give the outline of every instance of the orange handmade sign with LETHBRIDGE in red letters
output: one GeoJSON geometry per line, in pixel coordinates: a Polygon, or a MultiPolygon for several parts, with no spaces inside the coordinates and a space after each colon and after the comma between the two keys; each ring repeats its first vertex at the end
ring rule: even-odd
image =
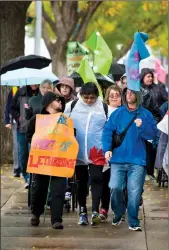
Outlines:
{"type": "Polygon", "coordinates": [[[71,178],[78,148],[71,118],[63,113],[36,115],[27,172],[71,178]]]}

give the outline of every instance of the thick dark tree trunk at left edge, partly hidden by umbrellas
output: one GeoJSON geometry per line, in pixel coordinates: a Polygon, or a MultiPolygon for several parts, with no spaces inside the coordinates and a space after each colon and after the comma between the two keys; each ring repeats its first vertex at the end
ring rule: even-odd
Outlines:
{"type": "MultiPolygon", "coordinates": [[[[1,1],[1,65],[8,60],[24,55],[26,12],[31,1],[1,1]]],[[[1,161],[8,162],[12,155],[11,132],[4,128],[3,111],[9,89],[1,87],[1,161]]]]}

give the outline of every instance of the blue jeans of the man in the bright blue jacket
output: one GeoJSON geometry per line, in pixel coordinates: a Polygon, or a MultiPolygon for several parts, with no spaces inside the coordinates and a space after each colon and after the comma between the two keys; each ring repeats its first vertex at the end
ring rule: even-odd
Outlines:
{"type": "Polygon", "coordinates": [[[140,225],[138,219],[141,194],[143,192],[146,168],[133,164],[111,164],[109,187],[111,189],[111,208],[118,218],[126,211],[124,189],[128,192],[128,224],[130,227],[140,225]]]}

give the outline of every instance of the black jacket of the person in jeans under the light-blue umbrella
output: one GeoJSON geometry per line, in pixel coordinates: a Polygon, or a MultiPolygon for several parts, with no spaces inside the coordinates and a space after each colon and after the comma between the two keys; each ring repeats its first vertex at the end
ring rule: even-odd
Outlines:
{"type": "Polygon", "coordinates": [[[16,92],[11,103],[11,115],[17,122],[18,129],[21,132],[26,132],[28,121],[25,119],[25,108],[24,104],[28,103],[28,100],[33,96],[37,95],[39,89],[33,91],[30,86],[24,86],[16,92]]]}

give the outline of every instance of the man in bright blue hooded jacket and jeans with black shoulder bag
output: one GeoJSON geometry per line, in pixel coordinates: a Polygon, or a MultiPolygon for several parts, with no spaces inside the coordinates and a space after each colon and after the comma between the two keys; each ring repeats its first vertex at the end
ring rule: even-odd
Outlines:
{"type": "Polygon", "coordinates": [[[118,226],[122,222],[126,210],[123,191],[127,185],[129,229],[141,231],[138,212],[146,176],[145,140],[156,136],[157,127],[152,114],[140,106],[139,92],[126,89],[123,94],[124,105],[112,113],[102,134],[105,158],[111,163],[112,225],[118,226]],[[126,128],[123,140],[114,147],[113,135],[120,135],[126,128]]]}

